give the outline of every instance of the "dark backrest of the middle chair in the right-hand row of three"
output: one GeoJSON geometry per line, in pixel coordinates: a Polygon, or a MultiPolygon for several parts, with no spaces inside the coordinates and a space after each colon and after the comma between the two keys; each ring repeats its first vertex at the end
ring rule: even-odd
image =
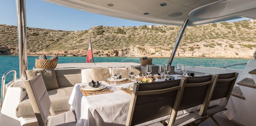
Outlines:
{"type": "Polygon", "coordinates": [[[205,106],[213,93],[212,89],[215,87],[216,80],[217,75],[188,77],[179,110],[201,105],[199,115],[203,115],[207,110],[205,106]]]}

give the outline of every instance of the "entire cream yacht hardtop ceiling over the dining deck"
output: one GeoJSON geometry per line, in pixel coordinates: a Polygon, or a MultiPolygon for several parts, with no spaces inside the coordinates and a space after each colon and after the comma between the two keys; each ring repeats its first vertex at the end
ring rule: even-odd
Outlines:
{"type": "Polygon", "coordinates": [[[256,0],[45,0],[117,18],[182,25],[201,25],[242,17],[256,19],[256,0]]]}

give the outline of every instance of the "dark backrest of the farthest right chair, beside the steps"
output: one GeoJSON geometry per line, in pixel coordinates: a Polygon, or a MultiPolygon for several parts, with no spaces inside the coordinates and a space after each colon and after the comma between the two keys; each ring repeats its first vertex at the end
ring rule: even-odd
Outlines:
{"type": "Polygon", "coordinates": [[[225,107],[228,104],[228,100],[236,83],[237,76],[237,72],[219,74],[211,97],[211,101],[220,98],[226,98],[222,105],[225,107]]]}

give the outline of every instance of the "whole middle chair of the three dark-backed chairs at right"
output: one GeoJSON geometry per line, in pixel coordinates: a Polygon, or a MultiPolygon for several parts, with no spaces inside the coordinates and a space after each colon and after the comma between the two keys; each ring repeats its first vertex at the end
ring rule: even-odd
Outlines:
{"type": "Polygon", "coordinates": [[[184,126],[203,118],[202,115],[207,110],[205,106],[213,93],[212,88],[215,87],[216,81],[217,75],[187,77],[178,111],[201,105],[200,111],[199,113],[190,112],[178,117],[176,117],[178,111],[173,111],[170,119],[166,120],[165,123],[168,126],[184,126]]]}

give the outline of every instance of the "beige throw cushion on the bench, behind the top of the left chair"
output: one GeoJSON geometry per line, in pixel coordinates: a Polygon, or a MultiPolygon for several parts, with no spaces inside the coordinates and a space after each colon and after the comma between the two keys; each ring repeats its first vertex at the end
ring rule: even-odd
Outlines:
{"type": "Polygon", "coordinates": [[[37,73],[42,74],[47,91],[57,89],[59,87],[54,69],[27,70],[26,71],[27,79],[28,80],[33,79],[34,77],[37,76],[37,73]]]}

